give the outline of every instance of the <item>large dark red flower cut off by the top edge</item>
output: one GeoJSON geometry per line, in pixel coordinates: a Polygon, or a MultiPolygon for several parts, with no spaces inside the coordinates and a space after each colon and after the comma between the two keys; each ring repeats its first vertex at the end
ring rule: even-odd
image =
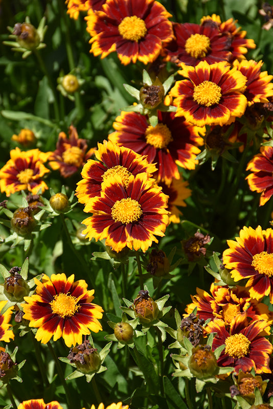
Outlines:
{"type": "Polygon", "coordinates": [[[87,32],[92,52],[106,57],[117,51],[124,65],[152,62],[163,43],[173,38],[171,14],[154,0],[107,0],[102,11],[88,11],[87,32]]]}

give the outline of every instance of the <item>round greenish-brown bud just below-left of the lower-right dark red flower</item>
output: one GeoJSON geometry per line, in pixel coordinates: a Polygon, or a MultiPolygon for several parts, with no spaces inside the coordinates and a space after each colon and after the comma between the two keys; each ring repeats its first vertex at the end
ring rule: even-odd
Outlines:
{"type": "Polygon", "coordinates": [[[212,376],[218,367],[215,355],[208,345],[194,347],[188,365],[189,370],[196,378],[212,376]]]}

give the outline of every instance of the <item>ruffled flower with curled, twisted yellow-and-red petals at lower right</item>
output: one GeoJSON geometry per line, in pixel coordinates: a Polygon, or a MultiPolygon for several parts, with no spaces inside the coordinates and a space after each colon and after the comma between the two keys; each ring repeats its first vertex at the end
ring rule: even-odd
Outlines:
{"type": "Polygon", "coordinates": [[[210,293],[200,288],[196,288],[197,294],[191,296],[192,303],[185,308],[187,314],[196,307],[196,313],[203,320],[216,318],[223,320],[229,326],[238,314],[247,312],[246,317],[253,321],[272,319],[268,307],[264,303],[253,300],[244,287],[229,287],[211,284],[210,293]]]}

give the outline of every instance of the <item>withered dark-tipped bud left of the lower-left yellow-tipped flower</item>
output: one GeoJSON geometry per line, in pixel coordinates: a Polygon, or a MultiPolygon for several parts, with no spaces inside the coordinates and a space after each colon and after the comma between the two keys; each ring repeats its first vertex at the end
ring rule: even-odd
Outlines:
{"type": "Polygon", "coordinates": [[[24,301],[24,297],[29,295],[28,283],[18,273],[19,267],[12,267],[10,276],[5,278],[4,294],[10,301],[24,301]]]}

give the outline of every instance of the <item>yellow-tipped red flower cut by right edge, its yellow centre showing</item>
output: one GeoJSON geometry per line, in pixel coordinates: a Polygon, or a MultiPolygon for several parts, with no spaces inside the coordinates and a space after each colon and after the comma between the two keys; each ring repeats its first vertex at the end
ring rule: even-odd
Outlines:
{"type": "Polygon", "coordinates": [[[231,269],[235,281],[247,278],[245,284],[252,298],[260,300],[269,296],[273,302],[273,230],[255,230],[244,226],[236,241],[227,240],[223,264],[231,269]]]}

